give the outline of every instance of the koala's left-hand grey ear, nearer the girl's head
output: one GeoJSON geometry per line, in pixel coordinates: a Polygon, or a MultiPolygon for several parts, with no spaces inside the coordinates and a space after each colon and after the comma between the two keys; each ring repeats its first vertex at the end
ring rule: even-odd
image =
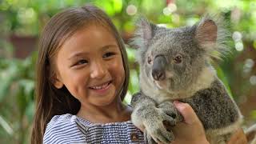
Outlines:
{"type": "Polygon", "coordinates": [[[143,17],[138,18],[136,23],[137,28],[130,44],[134,46],[134,48],[146,48],[150,39],[154,37],[154,29],[156,26],[143,17]]]}

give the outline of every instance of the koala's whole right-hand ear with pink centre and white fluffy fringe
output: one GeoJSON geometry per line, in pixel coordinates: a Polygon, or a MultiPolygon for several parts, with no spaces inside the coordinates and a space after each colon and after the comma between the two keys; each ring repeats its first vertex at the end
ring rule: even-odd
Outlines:
{"type": "Polygon", "coordinates": [[[230,54],[230,30],[221,15],[206,14],[202,20],[193,26],[194,37],[199,48],[206,50],[210,58],[222,59],[230,54]]]}

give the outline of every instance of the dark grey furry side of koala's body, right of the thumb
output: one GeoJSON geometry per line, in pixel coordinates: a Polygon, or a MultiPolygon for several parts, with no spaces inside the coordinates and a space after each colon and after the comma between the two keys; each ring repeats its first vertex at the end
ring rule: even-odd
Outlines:
{"type": "Polygon", "coordinates": [[[192,106],[206,130],[225,129],[240,119],[238,106],[218,79],[210,88],[199,90],[193,97],[182,99],[182,102],[192,106]]]}

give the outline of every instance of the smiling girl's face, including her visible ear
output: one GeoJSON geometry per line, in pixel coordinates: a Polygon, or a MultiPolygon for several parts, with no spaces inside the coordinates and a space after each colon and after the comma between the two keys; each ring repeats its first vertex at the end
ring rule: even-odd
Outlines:
{"type": "Polygon", "coordinates": [[[82,105],[106,106],[122,89],[122,54],[114,36],[103,26],[78,30],[60,47],[55,62],[54,86],[66,86],[82,105]]]}

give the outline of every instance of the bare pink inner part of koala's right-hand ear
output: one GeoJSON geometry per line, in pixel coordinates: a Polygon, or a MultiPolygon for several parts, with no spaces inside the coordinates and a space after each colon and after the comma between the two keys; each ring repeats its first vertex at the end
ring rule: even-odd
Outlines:
{"type": "Polygon", "coordinates": [[[218,26],[209,18],[203,18],[195,30],[195,38],[202,48],[212,48],[217,42],[218,26]]]}

